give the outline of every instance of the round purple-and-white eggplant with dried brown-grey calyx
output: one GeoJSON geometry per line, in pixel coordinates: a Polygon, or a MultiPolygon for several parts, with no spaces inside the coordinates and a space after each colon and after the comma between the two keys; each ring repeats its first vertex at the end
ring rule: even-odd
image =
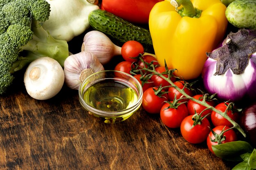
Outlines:
{"type": "Polygon", "coordinates": [[[229,33],[211,53],[202,69],[206,91],[221,100],[256,100],[256,30],[229,33]]]}

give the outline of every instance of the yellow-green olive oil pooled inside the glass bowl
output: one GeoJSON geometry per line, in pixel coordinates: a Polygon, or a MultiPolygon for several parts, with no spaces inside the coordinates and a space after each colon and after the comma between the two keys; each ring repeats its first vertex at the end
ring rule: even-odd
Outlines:
{"type": "Polygon", "coordinates": [[[127,82],[104,79],[86,89],[83,99],[93,108],[115,112],[133,106],[138,100],[138,95],[127,82]]]}

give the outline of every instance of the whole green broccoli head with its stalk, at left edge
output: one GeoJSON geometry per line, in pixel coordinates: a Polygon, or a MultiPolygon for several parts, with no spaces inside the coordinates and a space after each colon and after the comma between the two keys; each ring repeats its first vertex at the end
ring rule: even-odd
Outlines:
{"type": "Polygon", "coordinates": [[[64,66],[67,42],[42,27],[49,13],[46,0],[0,0],[0,94],[12,84],[14,72],[37,58],[52,57],[64,66]]]}

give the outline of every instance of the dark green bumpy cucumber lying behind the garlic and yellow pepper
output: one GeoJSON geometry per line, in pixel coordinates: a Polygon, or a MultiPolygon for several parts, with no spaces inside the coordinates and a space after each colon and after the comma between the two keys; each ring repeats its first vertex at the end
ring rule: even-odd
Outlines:
{"type": "Polygon", "coordinates": [[[140,42],[144,51],[154,53],[151,35],[148,29],[132,24],[108,11],[96,9],[89,13],[88,20],[92,29],[125,43],[129,40],[140,42]]]}

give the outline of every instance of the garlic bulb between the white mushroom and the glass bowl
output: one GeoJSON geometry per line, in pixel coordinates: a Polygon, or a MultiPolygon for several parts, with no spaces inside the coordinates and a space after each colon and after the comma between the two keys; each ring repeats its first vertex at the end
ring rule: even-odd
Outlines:
{"type": "Polygon", "coordinates": [[[82,51],[70,55],[64,62],[65,83],[69,88],[78,90],[86,77],[103,70],[103,65],[94,53],[82,51]]]}

